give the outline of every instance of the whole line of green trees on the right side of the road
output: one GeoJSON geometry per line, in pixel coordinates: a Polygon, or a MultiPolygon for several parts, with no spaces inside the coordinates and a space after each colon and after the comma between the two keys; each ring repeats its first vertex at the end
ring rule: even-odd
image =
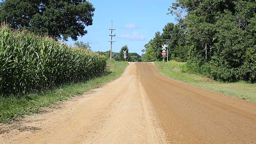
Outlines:
{"type": "Polygon", "coordinates": [[[178,0],[169,8],[177,24],[145,45],[143,61],[186,61],[189,72],[219,81],[256,81],[256,1],[178,0]],[[184,16],[185,15],[185,16],[184,16]]]}

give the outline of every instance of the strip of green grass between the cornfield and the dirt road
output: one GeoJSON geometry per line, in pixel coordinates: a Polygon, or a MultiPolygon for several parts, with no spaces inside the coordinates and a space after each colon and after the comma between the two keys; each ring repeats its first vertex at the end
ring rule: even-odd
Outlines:
{"type": "Polygon", "coordinates": [[[67,84],[60,88],[19,97],[0,97],[0,122],[5,123],[15,117],[35,113],[40,107],[49,107],[57,101],[64,101],[93,88],[100,87],[120,77],[127,65],[127,62],[109,61],[109,72],[106,75],[86,82],[67,84]]]}

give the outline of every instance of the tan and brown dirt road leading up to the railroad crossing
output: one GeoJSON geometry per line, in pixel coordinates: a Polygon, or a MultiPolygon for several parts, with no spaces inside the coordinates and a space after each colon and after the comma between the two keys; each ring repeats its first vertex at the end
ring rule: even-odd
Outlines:
{"type": "Polygon", "coordinates": [[[256,144],[255,103],[169,79],[152,63],[130,63],[62,105],[21,120],[0,144],[256,144]]]}

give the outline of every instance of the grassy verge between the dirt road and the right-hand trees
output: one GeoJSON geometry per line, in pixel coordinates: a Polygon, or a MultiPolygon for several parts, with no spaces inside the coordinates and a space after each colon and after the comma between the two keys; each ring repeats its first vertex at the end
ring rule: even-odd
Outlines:
{"type": "Polygon", "coordinates": [[[187,68],[185,63],[179,63],[177,61],[169,61],[168,63],[155,62],[155,66],[163,75],[172,79],[183,81],[197,87],[210,89],[232,97],[256,101],[256,84],[250,84],[245,81],[222,83],[200,75],[192,75],[186,72],[187,68]]]}

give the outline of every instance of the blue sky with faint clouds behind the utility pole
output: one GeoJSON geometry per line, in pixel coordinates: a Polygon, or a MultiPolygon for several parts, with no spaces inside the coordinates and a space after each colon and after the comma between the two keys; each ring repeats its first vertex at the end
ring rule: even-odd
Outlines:
{"type": "MultiPolygon", "coordinates": [[[[78,41],[89,42],[92,51],[110,49],[111,20],[113,28],[112,51],[119,52],[123,45],[128,45],[129,52],[141,55],[141,49],[155,35],[162,31],[165,24],[175,22],[175,16],[166,15],[168,8],[175,0],[88,0],[95,7],[93,25],[86,29],[88,33],[78,41]]],[[[67,44],[74,44],[69,39],[67,44]]]]}

